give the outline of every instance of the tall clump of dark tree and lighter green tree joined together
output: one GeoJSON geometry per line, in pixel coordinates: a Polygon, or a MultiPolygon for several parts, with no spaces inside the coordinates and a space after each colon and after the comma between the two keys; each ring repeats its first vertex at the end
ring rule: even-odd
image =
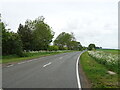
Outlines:
{"type": "Polygon", "coordinates": [[[21,37],[24,50],[47,50],[52,42],[54,32],[44,22],[44,17],[35,20],[26,20],[25,25],[19,25],[18,34],[21,37]]]}

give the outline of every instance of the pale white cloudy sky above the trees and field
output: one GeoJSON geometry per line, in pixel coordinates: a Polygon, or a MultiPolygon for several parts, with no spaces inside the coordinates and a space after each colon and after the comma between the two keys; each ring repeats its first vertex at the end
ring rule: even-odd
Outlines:
{"type": "Polygon", "coordinates": [[[0,0],[2,21],[16,32],[26,19],[44,16],[55,32],[73,32],[83,46],[118,47],[119,0],[0,0]]]}

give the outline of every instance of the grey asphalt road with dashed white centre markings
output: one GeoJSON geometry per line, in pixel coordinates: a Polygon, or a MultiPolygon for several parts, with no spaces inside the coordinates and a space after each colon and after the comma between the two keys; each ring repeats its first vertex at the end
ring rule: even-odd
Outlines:
{"type": "Polygon", "coordinates": [[[62,53],[3,67],[3,88],[78,88],[81,52],[62,53]]]}

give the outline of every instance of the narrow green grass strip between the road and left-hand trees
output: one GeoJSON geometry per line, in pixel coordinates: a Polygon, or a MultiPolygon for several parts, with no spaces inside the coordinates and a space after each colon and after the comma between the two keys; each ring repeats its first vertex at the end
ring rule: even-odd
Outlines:
{"type": "MultiPolygon", "coordinates": [[[[73,51],[61,51],[61,52],[39,52],[39,53],[25,53],[26,57],[19,57],[17,55],[8,55],[8,56],[2,56],[2,63],[11,63],[11,62],[19,62],[23,60],[29,60],[34,58],[39,58],[42,56],[49,56],[49,55],[55,55],[60,53],[66,53],[66,52],[73,52],[73,51]]],[[[0,60],[1,61],[1,60],[0,60]]]]}

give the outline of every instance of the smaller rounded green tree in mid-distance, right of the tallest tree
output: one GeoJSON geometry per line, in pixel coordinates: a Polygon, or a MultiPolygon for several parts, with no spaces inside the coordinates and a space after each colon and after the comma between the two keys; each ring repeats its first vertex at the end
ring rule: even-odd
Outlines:
{"type": "Polygon", "coordinates": [[[82,45],[80,42],[75,40],[74,34],[62,32],[54,41],[54,45],[57,45],[59,49],[64,50],[65,48],[69,50],[81,50],[82,45]]]}

